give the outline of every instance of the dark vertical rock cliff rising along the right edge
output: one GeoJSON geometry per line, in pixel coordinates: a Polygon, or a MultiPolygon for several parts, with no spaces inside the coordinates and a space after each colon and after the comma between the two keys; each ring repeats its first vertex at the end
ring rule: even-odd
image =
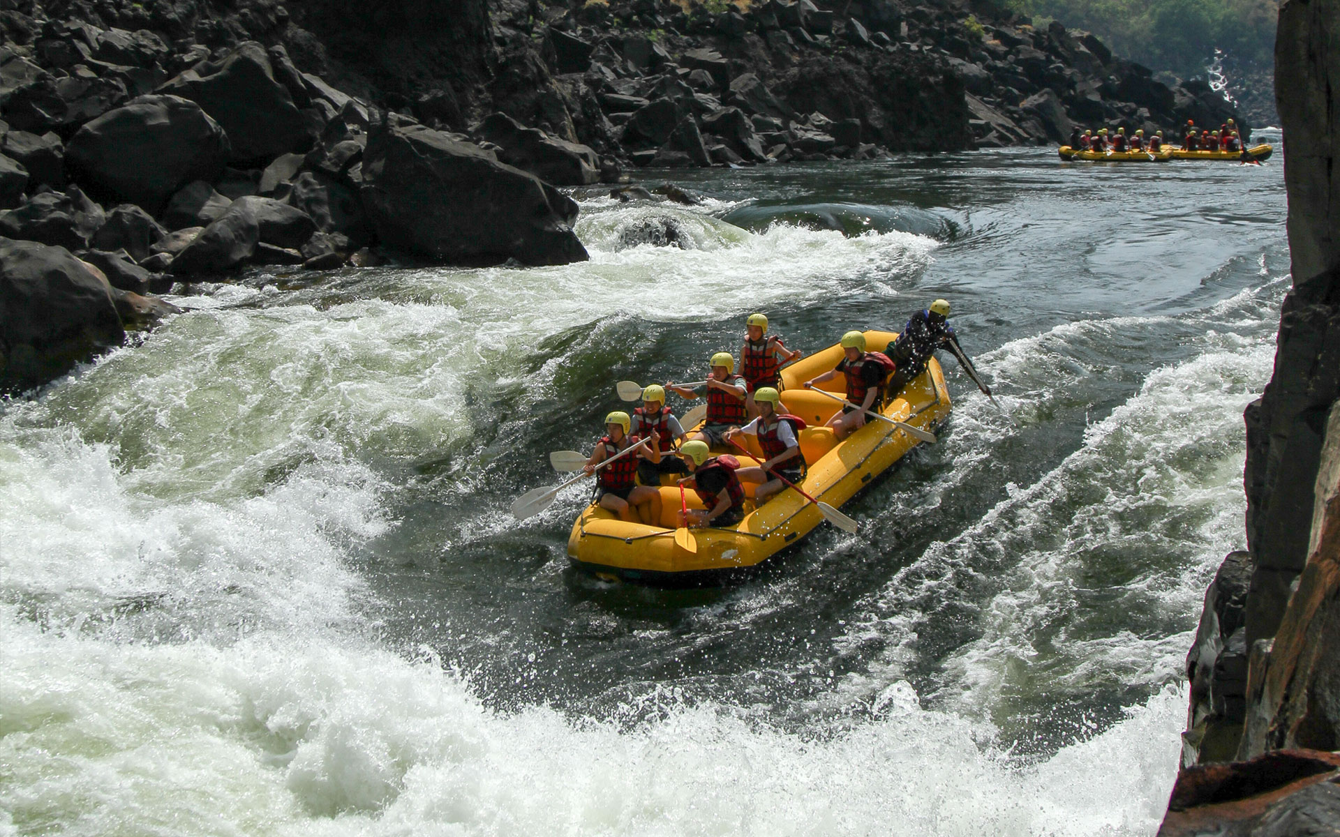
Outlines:
{"type": "Polygon", "coordinates": [[[1293,289],[1246,410],[1248,552],[1206,593],[1183,770],[1159,832],[1340,828],[1340,0],[1286,0],[1276,42],[1293,289]]]}

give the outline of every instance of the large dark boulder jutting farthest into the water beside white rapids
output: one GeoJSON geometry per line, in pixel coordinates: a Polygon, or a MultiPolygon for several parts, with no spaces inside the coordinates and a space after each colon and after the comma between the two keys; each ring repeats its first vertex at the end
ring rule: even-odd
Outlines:
{"type": "Polygon", "coordinates": [[[576,204],[488,151],[422,127],[379,126],[363,162],[363,205],[382,242],[452,262],[568,264],[586,248],[576,204]]]}

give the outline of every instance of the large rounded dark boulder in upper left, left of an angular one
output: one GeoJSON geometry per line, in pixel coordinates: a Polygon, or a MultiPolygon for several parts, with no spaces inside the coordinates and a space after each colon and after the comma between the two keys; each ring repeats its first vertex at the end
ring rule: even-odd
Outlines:
{"type": "Polygon", "coordinates": [[[217,179],[226,155],[218,123],[194,102],[169,95],[103,114],[79,129],[67,151],[80,182],[151,213],[186,183],[217,179]]]}

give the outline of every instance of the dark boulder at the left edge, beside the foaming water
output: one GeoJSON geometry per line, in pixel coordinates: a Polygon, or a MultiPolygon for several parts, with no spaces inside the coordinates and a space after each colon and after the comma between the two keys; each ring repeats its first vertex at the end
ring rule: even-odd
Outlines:
{"type": "Polygon", "coordinates": [[[0,238],[0,391],[48,383],[125,336],[111,288],[70,250],[0,238]]]}

